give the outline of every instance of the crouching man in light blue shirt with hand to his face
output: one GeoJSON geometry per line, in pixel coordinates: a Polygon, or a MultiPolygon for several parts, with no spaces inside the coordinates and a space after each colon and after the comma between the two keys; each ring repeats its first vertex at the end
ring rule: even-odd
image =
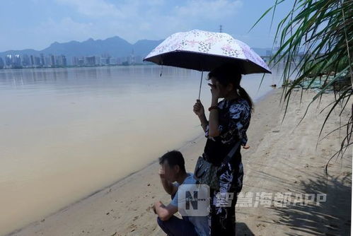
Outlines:
{"type": "MultiPolygon", "coordinates": [[[[170,151],[159,158],[159,164],[160,169],[158,174],[161,177],[161,183],[164,190],[170,194],[172,201],[170,201],[167,206],[161,203],[161,201],[154,203],[154,212],[158,215],[158,225],[167,235],[209,235],[209,225],[206,214],[202,216],[189,214],[186,216],[187,213],[185,213],[184,208],[180,208],[180,206],[185,204],[185,199],[188,197],[186,194],[187,189],[195,187],[196,184],[196,179],[193,174],[185,171],[183,154],[180,153],[180,151],[170,151]],[[173,184],[174,182],[176,183],[173,184]],[[178,211],[183,216],[182,219],[174,216],[174,213],[178,211]]],[[[191,190],[190,192],[195,193],[195,191],[191,190]]],[[[190,197],[192,198],[192,196],[190,197]]],[[[187,208],[191,207],[189,203],[187,208]]]]}

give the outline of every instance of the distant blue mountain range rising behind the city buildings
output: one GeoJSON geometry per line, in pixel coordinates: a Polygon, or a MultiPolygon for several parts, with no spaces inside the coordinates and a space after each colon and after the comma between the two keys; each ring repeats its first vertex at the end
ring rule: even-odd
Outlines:
{"type": "MultiPolygon", "coordinates": [[[[159,45],[163,40],[139,40],[134,44],[127,42],[121,37],[108,37],[105,40],[93,40],[92,38],[83,41],[70,41],[70,42],[54,42],[49,47],[37,51],[34,49],[24,50],[9,50],[0,52],[0,57],[5,57],[7,54],[28,54],[39,56],[42,54],[65,55],[66,57],[85,57],[109,54],[110,57],[129,57],[134,52],[134,55],[146,57],[154,47],[159,45]]],[[[253,48],[260,56],[265,56],[266,51],[270,48],[253,48]]]]}

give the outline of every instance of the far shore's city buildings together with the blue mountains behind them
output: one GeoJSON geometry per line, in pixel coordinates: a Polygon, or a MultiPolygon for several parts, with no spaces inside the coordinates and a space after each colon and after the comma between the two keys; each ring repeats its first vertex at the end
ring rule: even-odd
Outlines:
{"type": "MultiPolygon", "coordinates": [[[[142,60],[146,54],[160,42],[161,40],[139,40],[131,45],[120,37],[62,44],[54,42],[42,51],[27,49],[0,52],[0,69],[143,64],[142,60]]],[[[262,57],[271,54],[270,48],[254,50],[262,57]]]]}

